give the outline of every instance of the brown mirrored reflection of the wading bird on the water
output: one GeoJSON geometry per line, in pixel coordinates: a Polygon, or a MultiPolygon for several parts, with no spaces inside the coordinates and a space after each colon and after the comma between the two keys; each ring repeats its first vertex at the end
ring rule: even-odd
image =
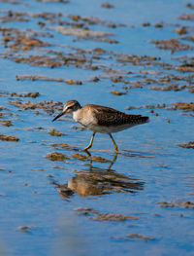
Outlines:
{"type": "Polygon", "coordinates": [[[117,173],[112,169],[94,167],[90,163],[86,170],[75,171],[75,176],[66,184],[55,181],[52,181],[52,184],[56,186],[61,197],[68,199],[75,193],[80,197],[106,195],[113,192],[134,194],[144,189],[145,182],[117,173]]]}

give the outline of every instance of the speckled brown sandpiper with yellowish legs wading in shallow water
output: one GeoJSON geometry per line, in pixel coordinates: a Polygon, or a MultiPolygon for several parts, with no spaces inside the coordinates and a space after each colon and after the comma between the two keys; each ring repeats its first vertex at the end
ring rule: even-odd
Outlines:
{"type": "Polygon", "coordinates": [[[73,119],[79,122],[84,128],[93,130],[89,145],[83,149],[85,151],[91,148],[96,132],[101,132],[111,137],[115,152],[117,152],[118,148],[113,140],[113,132],[143,125],[148,122],[148,117],[127,115],[110,107],[93,104],[81,107],[81,104],[77,100],[67,101],[63,107],[63,111],[52,122],[66,113],[72,114],[73,119]]]}

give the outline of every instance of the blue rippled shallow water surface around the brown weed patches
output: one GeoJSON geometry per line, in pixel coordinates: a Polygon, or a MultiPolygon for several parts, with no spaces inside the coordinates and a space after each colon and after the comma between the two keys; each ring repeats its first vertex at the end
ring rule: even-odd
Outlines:
{"type": "MultiPolygon", "coordinates": [[[[49,42],[48,48],[36,48],[30,52],[19,52],[15,55],[47,55],[47,50],[72,52],[71,46],[83,50],[102,48],[106,51],[128,55],[150,55],[160,57],[160,61],[178,64],[172,56],[192,56],[193,51],[176,52],[157,49],[150,40],[179,38],[174,32],[178,25],[193,26],[189,20],[180,20],[182,14],[192,13],[186,8],[187,1],[111,1],[113,9],[101,7],[103,1],[70,1],[62,3],[40,3],[38,1],[18,1],[0,3],[0,17],[5,12],[27,13],[62,13],[63,15],[80,15],[81,17],[98,17],[113,23],[122,23],[126,27],[109,28],[103,25],[89,25],[91,30],[113,32],[110,37],[118,44],[96,42],[92,40],[75,41],[74,36],[62,35],[52,28],[57,24],[41,18],[30,18],[29,21],[12,21],[3,23],[1,27],[33,29],[39,32],[50,32],[53,38],[38,38],[49,42]],[[27,6],[25,5],[27,4],[27,6]],[[37,21],[47,23],[47,28],[40,28],[37,21]],[[143,26],[149,22],[150,26],[143,26]],[[164,22],[163,28],[155,28],[154,24],[164,22]],[[131,27],[134,26],[134,27],[131,27]],[[53,46],[55,44],[55,46],[53,46]]],[[[64,18],[70,21],[68,18],[64,18]]],[[[181,40],[182,43],[192,43],[181,40]]],[[[2,43],[2,41],[1,41],[2,43]]],[[[0,45],[0,54],[8,53],[8,49],[0,45]]],[[[165,70],[159,65],[119,64],[113,55],[93,59],[93,64],[122,72],[131,71],[127,80],[141,80],[140,70],[156,71],[164,74],[178,74],[174,70],[165,70]],[[112,57],[110,57],[112,56],[112,57]]],[[[98,83],[90,82],[91,77],[107,75],[101,69],[92,71],[76,68],[73,65],[55,67],[33,66],[16,63],[8,58],[0,58],[1,91],[17,92],[39,91],[36,99],[22,98],[34,102],[53,100],[66,102],[77,99],[81,105],[95,103],[111,106],[126,113],[148,115],[150,122],[144,126],[127,129],[114,134],[119,153],[111,167],[115,174],[125,178],[136,179],[144,184],[142,190],[135,193],[118,193],[100,196],[81,197],[77,191],[69,199],[60,197],[56,186],[52,183],[67,184],[81,173],[101,171],[102,176],[109,173],[110,163],[81,162],[74,158],[75,150],[81,149],[89,142],[91,131],[77,130],[69,118],[51,123],[52,116],[40,110],[23,111],[16,108],[10,96],[0,96],[0,106],[14,126],[7,128],[0,123],[0,133],[19,138],[18,142],[0,141],[0,255],[70,255],[70,256],[103,256],[103,255],[194,255],[193,209],[179,207],[161,207],[161,201],[193,201],[193,149],[184,149],[178,143],[193,141],[193,117],[182,116],[182,111],[155,109],[159,116],[152,115],[150,109],[141,108],[125,110],[127,106],[143,106],[146,104],[193,101],[193,93],[189,91],[151,91],[149,86],[141,83],[143,89],[132,89],[128,93],[116,96],[110,91],[124,91],[122,83],[113,83],[111,79],[102,78],[98,83]],[[43,75],[54,78],[81,80],[82,85],[47,81],[16,81],[16,75],[43,75]],[[114,88],[113,88],[114,84],[114,88]],[[9,113],[16,116],[9,116],[9,113]],[[167,120],[170,119],[170,124],[167,120]],[[43,130],[30,130],[42,127],[43,130]],[[50,136],[49,130],[56,128],[66,133],[61,137],[50,136]],[[73,149],[54,149],[53,143],[65,142],[73,149]],[[64,162],[51,162],[45,158],[50,152],[57,151],[69,157],[64,162]],[[77,207],[89,207],[102,213],[119,213],[133,215],[138,220],[124,222],[96,221],[87,216],[77,214],[77,207]],[[19,231],[19,226],[32,226],[29,232],[19,231]],[[126,235],[139,234],[154,240],[126,239],[126,235]]],[[[157,78],[157,74],[150,76],[157,78]]],[[[178,82],[181,84],[182,82],[178,82]]],[[[184,82],[187,85],[187,82],[184,82]]],[[[152,86],[154,84],[150,84],[152,86]]],[[[190,113],[190,112],[189,112],[190,113]]],[[[53,116],[58,114],[54,113],[53,116]]],[[[187,113],[188,114],[188,113],[187,113]]],[[[1,119],[0,119],[1,121],[1,119]]],[[[113,144],[104,134],[97,134],[90,151],[92,156],[113,160],[113,144]]],[[[81,153],[84,155],[84,153],[81,153]]],[[[86,180],[80,186],[87,186],[86,180]]]]}

